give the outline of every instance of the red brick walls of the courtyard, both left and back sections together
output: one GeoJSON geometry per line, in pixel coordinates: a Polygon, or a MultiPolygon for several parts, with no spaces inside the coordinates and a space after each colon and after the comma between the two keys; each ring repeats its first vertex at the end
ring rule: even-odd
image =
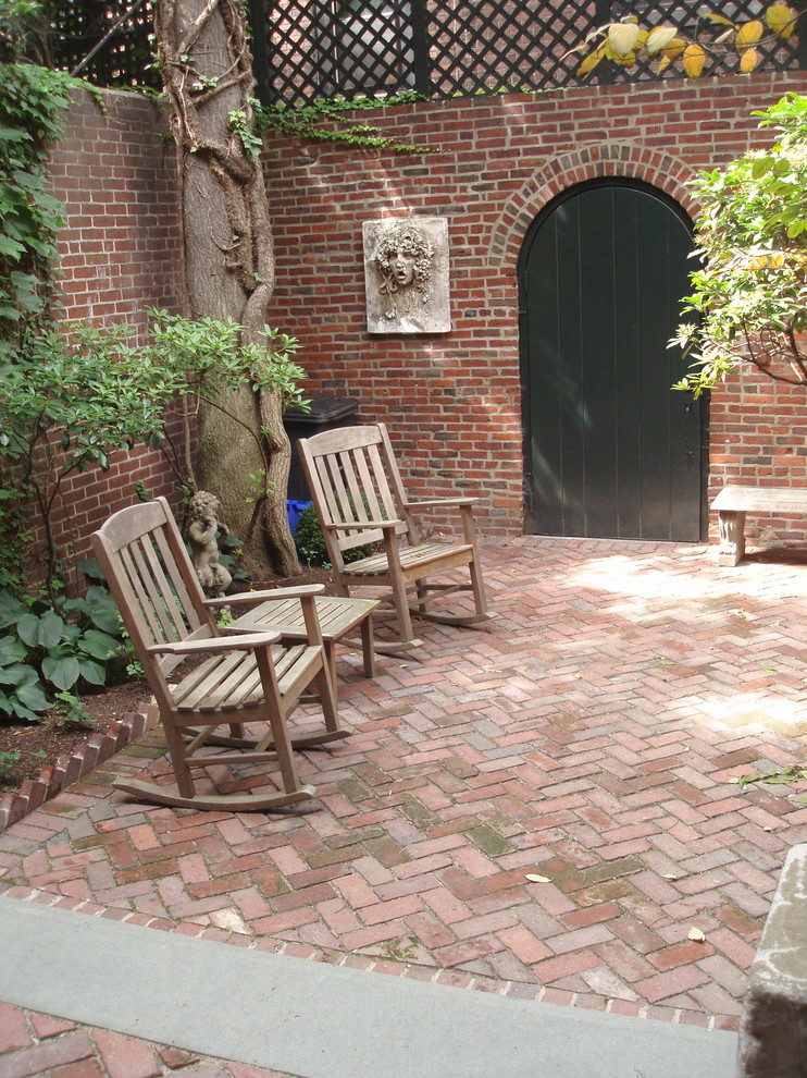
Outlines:
{"type": "MultiPolygon", "coordinates": [[[[369,113],[385,132],[429,147],[424,156],[270,137],[277,248],[270,321],[300,338],[312,392],[358,399],[359,420],[389,424],[412,493],[480,491],[483,530],[519,535],[517,261],[530,224],[564,187],[606,174],[646,180],[694,211],[686,181],[765,145],[769,136],[749,114],[789,90],[807,93],[807,74],[458,98],[369,113]],[[410,212],[448,218],[454,329],[371,336],[361,224],[410,212]]],[[[55,192],[67,206],[67,314],[139,322],[148,306],[179,305],[173,149],[149,101],[103,98],[107,111],[89,97],[76,101],[52,158],[55,192]]],[[[807,485],[803,402],[802,391],[753,372],[713,394],[710,497],[729,479],[807,485]]],[[[132,501],[138,478],[173,497],[153,453],[103,477],[80,477],[82,532],[132,501]]],[[[766,524],[748,523],[749,534],[766,524]]],[[[807,528],[775,522],[775,532],[803,540],[807,528]]]]}

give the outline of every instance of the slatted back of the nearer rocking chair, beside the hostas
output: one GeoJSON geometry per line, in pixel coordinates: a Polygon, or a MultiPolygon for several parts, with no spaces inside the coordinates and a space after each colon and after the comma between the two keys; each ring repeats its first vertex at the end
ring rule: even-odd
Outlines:
{"type": "MultiPolygon", "coordinates": [[[[121,510],[92,536],[96,555],[138,658],[146,649],[216,635],[199,580],[164,498],[121,510]]],[[[169,674],[182,660],[159,660],[169,674]]]]}

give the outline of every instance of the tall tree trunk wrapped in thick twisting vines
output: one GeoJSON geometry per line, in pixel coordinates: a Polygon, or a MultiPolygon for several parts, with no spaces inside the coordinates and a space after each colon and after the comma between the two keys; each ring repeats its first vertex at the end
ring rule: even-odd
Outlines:
{"type": "MultiPolygon", "coordinates": [[[[252,142],[244,5],[158,0],[156,24],[179,158],[188,311],[232,318],[244,327],[244,343],[264,343],[274,250],[260,145],[252,142]]],[[[280,394],[223,390],[218,401],[220,407],[200,405],[198,482],[219,498],[222,519],[245,541],[251,575],[294,575],[299,562],[286,518],[291,451],[280,394]]]]}

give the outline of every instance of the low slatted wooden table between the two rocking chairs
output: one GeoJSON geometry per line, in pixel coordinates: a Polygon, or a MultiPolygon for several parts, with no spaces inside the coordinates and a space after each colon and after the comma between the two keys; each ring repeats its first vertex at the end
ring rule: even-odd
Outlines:
{"type": "MultiPolygon", "coordinates": [[[[336,644],[352,633],[357,626],[361,634],[361,653],[364,675],[375,677],[375,651],[373,650],[373,611],[376,599],[342,599],[338,596],[316,596],[316,616],[320,618],[331,675],[336,681],[336,644]]],[[[227,632],[259,633],[271,626],[291,639],[306,640],[306,623],[299,599],[269,599],[253,607],[246,614],[227,625],[227,632]]]]}

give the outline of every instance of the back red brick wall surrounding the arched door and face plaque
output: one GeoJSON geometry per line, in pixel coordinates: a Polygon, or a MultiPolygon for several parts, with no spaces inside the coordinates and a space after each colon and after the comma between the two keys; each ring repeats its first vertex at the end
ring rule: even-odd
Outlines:
{"type": "MultiPolygon", "coordinates": [[[[312,388],[360,401],[383,420],[412,493],[484,494],[483,529],[518,535],[522,422],[517,262],[543,206],[598,175],[656,184],[691,212],[699,169],[765,145],[750,118],[807,74],[703,83],[581,87],[474,97],[362,113],[431,152],[394,156],[337,145],[269,142],[277,290],[270,320],[302,341],[312,388]],[[365,330],[362,221],[448,218],[454,329],[373,336],[365,330]]],[[[724,481],[807,485],[804,391],[753,373],[713,394],[710,497],[724,481]]],[[[757,524],[749,518],[749,535],[757,524]]],[[[715,522],[711,522],[715,529],[715,522]]],[[[777,532],[807,534],[798,522],[777,532]]]]}

